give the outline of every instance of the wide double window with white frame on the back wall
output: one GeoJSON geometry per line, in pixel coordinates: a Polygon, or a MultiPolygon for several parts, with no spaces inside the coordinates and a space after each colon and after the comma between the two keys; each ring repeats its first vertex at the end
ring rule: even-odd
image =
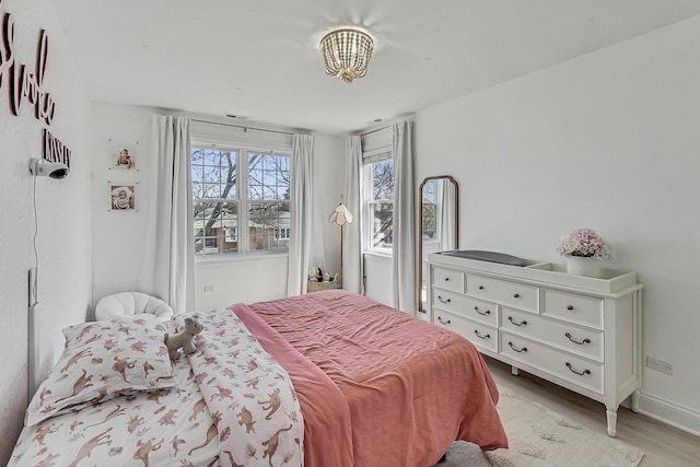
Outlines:
{"type": "Polygon", "coordinates": [[[290,160],[269,151],[192,144],[198,258],[288,252],[290,160]]]}

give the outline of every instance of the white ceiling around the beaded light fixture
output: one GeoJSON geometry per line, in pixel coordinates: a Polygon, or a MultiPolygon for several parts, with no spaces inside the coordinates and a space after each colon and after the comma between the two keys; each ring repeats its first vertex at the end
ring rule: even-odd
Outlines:
{"type": "Polygon", "coordinates": [[[52,0],[91,97],[342,133],[700,14],[699,0],[52,0]],[[324,72],[340,24],[365,78],[324,72]]]}

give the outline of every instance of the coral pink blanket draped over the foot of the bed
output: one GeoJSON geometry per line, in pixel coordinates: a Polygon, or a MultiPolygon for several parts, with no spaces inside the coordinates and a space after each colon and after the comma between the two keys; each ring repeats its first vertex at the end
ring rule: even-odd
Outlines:
{"type": "Polygon", "coordinates": [[[306,467],[424,467],[455,440],[508,447],[497,386],[463,337],[340,290],[232,310],[292,378],[306,467]],[[272,341],[289,345],[280,352],[272,341]],[[320,394],[310,395],[322,373],[334,384],[320,376],[320,394]],[[310,433],[314,419],[325,425],[310,433]]]}

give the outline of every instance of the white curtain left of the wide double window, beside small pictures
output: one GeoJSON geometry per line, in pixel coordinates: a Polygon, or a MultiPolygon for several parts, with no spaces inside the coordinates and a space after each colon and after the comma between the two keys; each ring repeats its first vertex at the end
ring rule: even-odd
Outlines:
{"type": "Polygon", "coordinates": [[[153,141],[155,183],[147,187],[151,206],[140,283],[175,313],[186,313],[195,310],[189,119],[156,115],[153,141]]]}

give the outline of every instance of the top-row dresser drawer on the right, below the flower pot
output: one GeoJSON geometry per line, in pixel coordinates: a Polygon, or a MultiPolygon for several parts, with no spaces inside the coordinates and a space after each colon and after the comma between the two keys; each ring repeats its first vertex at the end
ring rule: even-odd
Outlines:
{"type": "Polygon", "coordinates": [[[542,315],[603,329],[603,300],[545,289],[542,315]]]}

